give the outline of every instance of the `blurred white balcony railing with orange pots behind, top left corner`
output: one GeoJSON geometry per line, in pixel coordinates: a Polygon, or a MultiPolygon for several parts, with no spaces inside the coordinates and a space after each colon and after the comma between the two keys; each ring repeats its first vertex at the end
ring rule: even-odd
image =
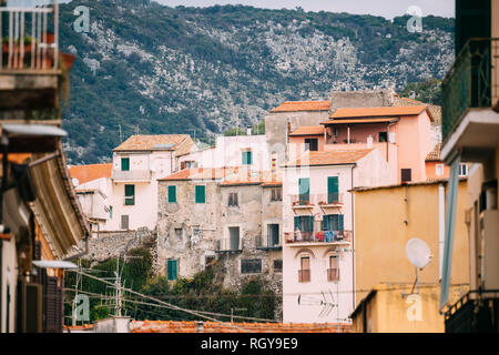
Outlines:
{"type": "Polygon", "coordinates": [[[0,72],[58,69],[58,1],[38,7],[17,2],[0,4],[0,72]]]}

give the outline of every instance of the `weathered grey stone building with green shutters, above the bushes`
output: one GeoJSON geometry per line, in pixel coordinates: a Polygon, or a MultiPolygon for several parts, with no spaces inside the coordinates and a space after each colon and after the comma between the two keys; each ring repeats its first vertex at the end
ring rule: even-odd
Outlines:
{"type": "Polygon", "coordinates": [[[240,168],[186,169],[159,181],[157,260],[169,280],[220,261],[224,286],[262,276],[282,295],[282,184],[240,168]]]}

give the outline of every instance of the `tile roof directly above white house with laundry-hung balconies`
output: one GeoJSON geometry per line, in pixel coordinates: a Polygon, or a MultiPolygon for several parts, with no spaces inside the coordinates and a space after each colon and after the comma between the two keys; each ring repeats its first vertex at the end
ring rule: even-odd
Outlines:
{"type": "Polygon", "coordinates": [[[314,165],[342,165],[353,164],[367,154],[373,149],[350,150],[350,151],[322,151],[305,152],[298,159],[285,163],[283,166],[314,166],[314,165]]]}

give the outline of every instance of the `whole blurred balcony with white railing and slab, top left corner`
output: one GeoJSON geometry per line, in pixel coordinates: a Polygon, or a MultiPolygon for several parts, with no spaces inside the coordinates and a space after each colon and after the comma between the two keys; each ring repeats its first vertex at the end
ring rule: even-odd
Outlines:
{"type": "Polygon", "coordinates": [[[59,53],[58,1],[45,2],[0,6],[0,110],[59,106],[60,69],[69,70],[72,55],[59,53]]]}

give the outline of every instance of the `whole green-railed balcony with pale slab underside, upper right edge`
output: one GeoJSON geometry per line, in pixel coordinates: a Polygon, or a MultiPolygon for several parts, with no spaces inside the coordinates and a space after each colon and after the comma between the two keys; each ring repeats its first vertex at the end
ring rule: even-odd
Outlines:
{"type": "Polygon", "coordinates": [[[475,161],[499,144],[498,65],[499,39],[470,39],[456,58],[441,85],[444,159],[459,150],[475,161]]]}

